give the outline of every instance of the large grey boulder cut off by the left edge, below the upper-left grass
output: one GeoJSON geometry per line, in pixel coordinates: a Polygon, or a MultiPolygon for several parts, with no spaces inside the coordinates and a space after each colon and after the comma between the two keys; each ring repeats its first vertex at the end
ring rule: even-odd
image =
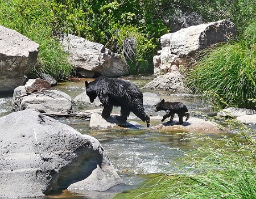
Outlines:
{"type": "Polygon", "coordinates": [[[23,85],[36,63],[39,45],[13,29],[0,26],[0,92],[23,85]]]}

